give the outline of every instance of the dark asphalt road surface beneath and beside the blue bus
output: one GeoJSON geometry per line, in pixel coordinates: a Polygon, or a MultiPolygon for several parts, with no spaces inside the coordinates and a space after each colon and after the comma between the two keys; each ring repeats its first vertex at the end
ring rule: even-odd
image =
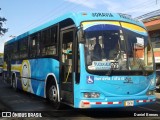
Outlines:
{"type": "MultiPolygon", "coordinates": [[[[159,94],[158,94],[159,96],[159,94]]],[[[70,117],[73,119],[137,119],[134,115],[143,115],[143,119],[160,120],[160,99],[152,105],[127,107],[119,109],[91,109],[79,110],[71,107],[65,107],[63,110],[54,110],[54,108],[41,97],[22,92],[14,91],[10,86],[4,84],[0,78],[0,111],[14,111],[18,113],[38,112],[46,119],[70,117]],[[152,114],[152,117],[146,117],[146,114],[152,114]],[[153,115],[159,117],[153,117],[153,115]]],[[[4,118],[7,119],[7,118],[4,118]]]]}

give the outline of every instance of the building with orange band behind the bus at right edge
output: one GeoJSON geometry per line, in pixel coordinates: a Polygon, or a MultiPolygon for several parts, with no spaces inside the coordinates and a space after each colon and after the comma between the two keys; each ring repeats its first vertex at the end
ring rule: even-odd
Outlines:
{"type": "Polygon", "coordinates": [[[149,33],[157,69],[157,88],[160,91],[160,9],[139,16],[136,19],[143,21],[149,33]]]}

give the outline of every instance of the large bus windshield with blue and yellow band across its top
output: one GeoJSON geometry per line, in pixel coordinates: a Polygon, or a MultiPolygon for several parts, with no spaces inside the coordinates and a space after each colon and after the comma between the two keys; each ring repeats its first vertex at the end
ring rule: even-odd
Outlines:
{"type": "Polygon", "coordinates": [[[153,52],[144,28],[125,22],[82,23],[87,69],[153,70],[153,52]]]}

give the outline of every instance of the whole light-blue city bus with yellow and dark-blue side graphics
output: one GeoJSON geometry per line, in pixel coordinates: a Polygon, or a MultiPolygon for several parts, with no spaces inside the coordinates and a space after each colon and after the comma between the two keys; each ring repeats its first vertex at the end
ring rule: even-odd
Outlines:
{"type": "Polygon", "coordinates": [[[151,104],[156,72],[143,23],[124,14],[68,13],[5,43],[3,79],[55,109],[151,104]]]}

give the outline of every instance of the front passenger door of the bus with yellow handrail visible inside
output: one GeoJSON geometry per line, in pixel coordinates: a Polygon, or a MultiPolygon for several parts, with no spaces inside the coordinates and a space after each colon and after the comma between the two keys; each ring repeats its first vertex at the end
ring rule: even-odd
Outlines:
{"type": "Polygon", "coordinates": [[[61,29],[60,80],[62,102],[73,104],[73,68],[75,29],[61,29]]]}

